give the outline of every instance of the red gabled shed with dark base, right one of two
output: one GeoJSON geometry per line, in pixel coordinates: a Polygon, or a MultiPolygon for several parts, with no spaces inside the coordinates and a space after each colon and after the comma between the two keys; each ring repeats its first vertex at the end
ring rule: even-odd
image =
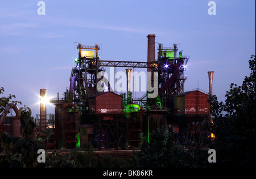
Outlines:
{"type": "Polygon", "coordinates": [[[201,145],[209,137],[210,131],[205,126],[209,121],[209,95],[203,90],[192,90],[177,95],[175,99],[175,114],[167,124],[177,133],[182,144],[193,140],[201,145]]]}

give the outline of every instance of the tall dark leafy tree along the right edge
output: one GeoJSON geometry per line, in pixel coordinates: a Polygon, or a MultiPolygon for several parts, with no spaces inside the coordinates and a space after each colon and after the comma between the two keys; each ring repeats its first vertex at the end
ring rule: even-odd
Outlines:
{"type": "Polygon", "coordinates": [[[216,95],[209,100],[218,166],[255,167],[255,55],[249,68],[250,76],[241,86],[230,84],[225,103],[219,103],[216,95]]]}

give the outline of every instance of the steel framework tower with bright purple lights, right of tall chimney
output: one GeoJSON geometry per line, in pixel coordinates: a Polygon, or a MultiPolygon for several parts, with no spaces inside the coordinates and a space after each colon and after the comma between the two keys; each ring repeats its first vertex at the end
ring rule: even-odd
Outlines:
{"type": "Polygon", "coordinates": [[[184,70],[189,56],[183,56],[182,51],[177,56],[177,44],[174,47],[158,47],[159,94],[163,106],[174,109],[174,96],[184,93],[184,70]]]}

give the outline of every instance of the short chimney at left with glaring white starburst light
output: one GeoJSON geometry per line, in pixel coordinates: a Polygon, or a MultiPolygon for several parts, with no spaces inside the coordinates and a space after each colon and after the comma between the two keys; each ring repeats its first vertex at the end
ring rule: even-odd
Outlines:
{"type": "MultiPolygon", "coordinates": [[[[40,101],[46,97],[46,89],[40,89],[40,101]]],[[[46,102],[40,102],[40,127],[41,131],[46,130],[46,102]]]]}

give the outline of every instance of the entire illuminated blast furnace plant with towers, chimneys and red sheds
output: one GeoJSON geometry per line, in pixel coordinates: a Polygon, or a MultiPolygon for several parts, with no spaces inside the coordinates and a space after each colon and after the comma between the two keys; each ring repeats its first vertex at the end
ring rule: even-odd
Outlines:
{"type": "MultiPolygon", "coordinates": [[[[193,141],[201,146],[205,138],[214,138],[204,124],[212,122],[208,97],[212,94],[213,72],[208,72],[208,92],[200,89],[185,91],[187,76],[184,72],[189,56],[184,56],[177,44],[164,47],[156,43],[155,37],[154,34],[147,35],[147,61],[101,60],[100,45],[77,43],[79,55],[71,69],[69,88],[64,89],[63,96],[59,97],[58,93],[56,99],[49,101],[55,105],[55,122],[48,149],[85,147],[88,142],[98,150],[139,148],[142,135],[148,138],[157,128],[172,128],[184,145],[193,141]],[[155,44],[158,44],[157,48],[155,44]],[[106,67],[114,68],[114,72],[122,67],[126,73],[126,93],[117,91],[105,78],[106,67]],[[138,80],[139,77],[131,74],[138,68],[147,70],[147,90],[135,98],[131,89],[135,84],[131,84],[131,78],[138,80]]],[[[40,100],[46,96],[47,89],[40,89],[40,100]]],[[[40,122],[35,128],[42,134],[47,129],[46,107],[47,103],[40,103],[40,122]]],[[[0,128],[18,137],[19,110],[11,105],[6,111],[11,108],[16,115],[6,116],[3,112],[0,128]]],[[[42,135],[42,138],[46,136],[42,135]]]]}

